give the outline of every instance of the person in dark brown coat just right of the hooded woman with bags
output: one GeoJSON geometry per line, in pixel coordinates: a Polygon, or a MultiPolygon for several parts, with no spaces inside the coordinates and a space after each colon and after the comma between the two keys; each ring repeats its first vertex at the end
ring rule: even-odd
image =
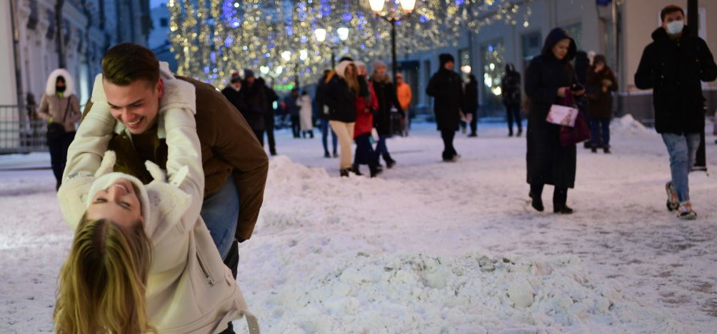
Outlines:
{"type": "Polygon", "coordinates": [[[587,113],[590,116],[592,153],[602,147],[610,153],[610,120],[612,119],[612,92],[617,91],[617,80],[605,64],[605,56],[596,54],[587,74],[587,113]]]}

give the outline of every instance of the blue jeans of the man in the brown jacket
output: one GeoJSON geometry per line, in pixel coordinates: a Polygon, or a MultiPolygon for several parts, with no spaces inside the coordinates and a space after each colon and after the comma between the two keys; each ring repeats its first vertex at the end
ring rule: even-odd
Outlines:
{"type": "Polygon", "coordinates": [[[227,178],[222,188],[204,197],[200,215],[224,259],[232,247],[239,218],[239,191],[233,176],[227,178]]]}

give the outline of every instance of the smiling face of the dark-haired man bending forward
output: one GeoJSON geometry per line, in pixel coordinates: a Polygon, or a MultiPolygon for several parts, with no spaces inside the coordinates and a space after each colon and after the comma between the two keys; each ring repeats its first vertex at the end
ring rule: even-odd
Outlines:
{"type": "Polygon", "coordinates": [[[159,79],[152,85],[147,80],[135,80],[129,85],[115,85],[103,80],[110,113],[122,122],[130,133],[138,135],[153,127],[157,120],[159,100],[164,95],[164,83],[159,79]]]}

